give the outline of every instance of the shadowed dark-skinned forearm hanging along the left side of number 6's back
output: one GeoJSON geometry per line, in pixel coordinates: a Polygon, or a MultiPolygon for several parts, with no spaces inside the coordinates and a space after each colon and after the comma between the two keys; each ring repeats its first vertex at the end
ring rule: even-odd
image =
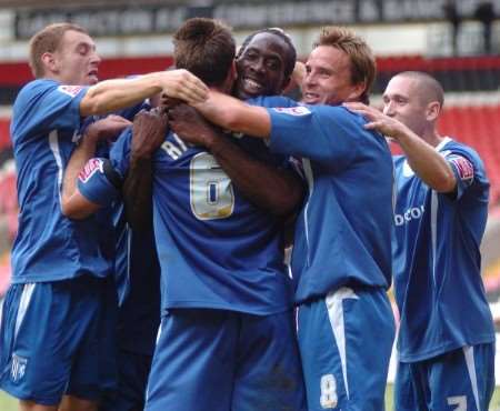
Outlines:
{"type": "Polygon", "coordinates": [[[127,221],[132,230],[152,223],[152,161],[150,158],[131,158],[123,182],[123,201],[127,221]]]}

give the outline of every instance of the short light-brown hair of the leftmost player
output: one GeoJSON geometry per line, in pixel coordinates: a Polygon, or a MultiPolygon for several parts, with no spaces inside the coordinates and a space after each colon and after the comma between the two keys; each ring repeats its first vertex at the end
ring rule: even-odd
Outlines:
{"type": "Polygon", "coordinates": [[[43,53],[53,53],[58,50],[62,42],[62,36],[67,31],[78,31],[89,34],[86,29],[78,24],[62,22],[49,24],[31,38],[29,64],[34,78],[39,79],[46,74],[41,57],[43,53]]]}

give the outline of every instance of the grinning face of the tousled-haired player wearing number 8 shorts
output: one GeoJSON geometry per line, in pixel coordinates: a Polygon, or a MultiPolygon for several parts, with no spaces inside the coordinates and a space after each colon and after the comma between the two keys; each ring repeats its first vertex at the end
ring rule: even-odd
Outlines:
{"type": "Polygon", "coordinates": [[[340,104],[356,101],[364,83],[353,84],[349,56],[331,46],[318,46],[306,62],[302,101],[307,104],[340,104]]]}

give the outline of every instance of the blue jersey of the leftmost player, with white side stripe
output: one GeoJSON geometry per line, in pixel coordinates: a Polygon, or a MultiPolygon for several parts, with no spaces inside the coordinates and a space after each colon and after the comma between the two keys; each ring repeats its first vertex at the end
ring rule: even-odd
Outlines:
{"type": "Polygon", "coordinates": [[[86,87],[34,80],[16,99],[11,137],[20,211],[12,249],[14,283],[111,272],[97,217],[73,221],[61,213],[63,172],[78,139],[86,92],[86,87]]]}

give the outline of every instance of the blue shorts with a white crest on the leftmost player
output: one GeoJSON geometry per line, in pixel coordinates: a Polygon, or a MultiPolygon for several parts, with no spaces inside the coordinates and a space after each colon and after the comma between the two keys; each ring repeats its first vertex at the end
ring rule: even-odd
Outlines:
{"type": "Polygon", "coordinates": [[[0,327],[0,388],[57,405],[116,389],[117,295],[108,280],[12,284],[0,327]]]}

